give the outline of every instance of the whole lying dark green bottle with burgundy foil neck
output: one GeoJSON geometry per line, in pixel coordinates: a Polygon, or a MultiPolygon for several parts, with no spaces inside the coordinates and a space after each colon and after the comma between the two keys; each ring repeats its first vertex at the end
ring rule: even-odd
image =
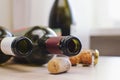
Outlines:
{"type": "MultiPolygon", "coordinates": [[[[50,28],[43,28],[41,26],[34,26],[24,36],[33,41],[32,53],[25,57],[25,59],[28,63],[36,65],[47,63],[53,58],[54,54],[76,55],[80,52],[82,46],[80,40],[74,36],[58,37],[50,28]]],[[[18,61],[20,61],[20,58],[18,61]]]]}

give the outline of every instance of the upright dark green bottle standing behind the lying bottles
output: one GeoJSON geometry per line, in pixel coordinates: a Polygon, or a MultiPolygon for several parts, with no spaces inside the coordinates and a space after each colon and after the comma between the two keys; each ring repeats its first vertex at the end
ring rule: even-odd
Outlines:
{"type": "Polygon", "coordinates": [[[50,16],[49,27],[62,36],[70,35],[70,26],[72,24],[72,14],[68,0],[55,0],[50,16]]]}

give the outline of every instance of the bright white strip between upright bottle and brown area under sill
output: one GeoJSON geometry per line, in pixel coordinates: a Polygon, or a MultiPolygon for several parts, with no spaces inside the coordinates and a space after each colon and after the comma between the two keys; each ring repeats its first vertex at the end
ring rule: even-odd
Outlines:
{"type": "Polygon", "coordinates": [[[90,28],[93,26],[93,1],[69,0],[76,23],[76,32],[73,34],[80,38],[83,48],[89,48],[90,28]]]}

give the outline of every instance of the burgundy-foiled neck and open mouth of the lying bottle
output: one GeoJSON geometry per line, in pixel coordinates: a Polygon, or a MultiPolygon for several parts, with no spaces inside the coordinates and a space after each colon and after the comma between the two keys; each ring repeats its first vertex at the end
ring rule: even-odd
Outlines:
{"type": "Polygon", "coordinates": [[[78,54],[82,46],[80,41],[72,36],[50,37],[45,41],[45,44],[48,52],[67,56],[78,54]]]}

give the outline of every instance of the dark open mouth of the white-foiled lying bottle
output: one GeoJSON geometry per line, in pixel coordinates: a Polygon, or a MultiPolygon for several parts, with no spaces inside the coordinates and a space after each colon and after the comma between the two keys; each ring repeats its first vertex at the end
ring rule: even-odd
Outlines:
{"type": "Polygon", "coordinates": [[[15,39],[12,50],[15,52],[16,56],[24,57],[28,56],[32,51],[33,45],[31,40],[26,37],[20,37],[15,39]]]}

